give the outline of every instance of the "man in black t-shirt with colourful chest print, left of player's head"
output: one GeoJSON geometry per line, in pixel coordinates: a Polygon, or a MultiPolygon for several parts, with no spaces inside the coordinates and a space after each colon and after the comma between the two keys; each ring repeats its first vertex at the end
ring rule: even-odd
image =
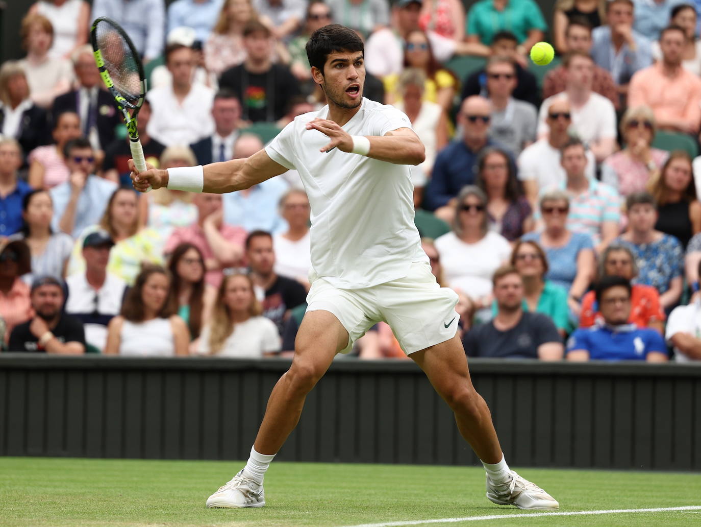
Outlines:
{"type": "Polygon", "coordinates": [[[246,60],[222,73],[219,88],[238,93],[244,121],[273,123],[285,115],[287,100],[299,95],[299,82],[290,68],[273,64],[271,30],[257,20],[243,28],[246,60]]]}

